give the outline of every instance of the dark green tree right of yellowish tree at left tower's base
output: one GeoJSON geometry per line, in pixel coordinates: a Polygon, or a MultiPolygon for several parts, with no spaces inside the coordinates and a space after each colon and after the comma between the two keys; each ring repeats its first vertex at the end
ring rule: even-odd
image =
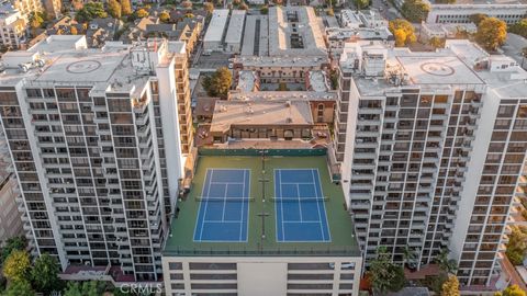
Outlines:
{"type": "Polygon", "coordinates": [[[34,287],[45,294],[58,291],[60,285],[60,280],[58,278],[59,271],[60,269],[55,258],[47,253],[42,254],[35,260],[33,270],[31,271],[34,287]]]}

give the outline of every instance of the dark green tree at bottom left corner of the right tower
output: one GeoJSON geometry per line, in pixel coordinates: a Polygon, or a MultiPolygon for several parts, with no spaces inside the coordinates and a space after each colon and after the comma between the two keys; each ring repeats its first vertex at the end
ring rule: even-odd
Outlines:
{"type": "Polygon", "coordinates": [[[384,247],[377,249],[377,258],[370,262],[368,275],[373,292],[381,295],[401,289],[406,282],[403,267],[392,263],[384,247]]]}

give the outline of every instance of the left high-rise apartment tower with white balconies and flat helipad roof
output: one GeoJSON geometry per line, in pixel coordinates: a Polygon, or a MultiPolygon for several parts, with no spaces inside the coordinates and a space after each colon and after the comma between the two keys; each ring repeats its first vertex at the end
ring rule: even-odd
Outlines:
{"type": "Polygon", "coordinates": [[[35,254],[65,272],[159,280],[189,145],[181,53],[164,39],[87,49],[85,36],[52,36],[3,56],[0,118],[35,254]]]}

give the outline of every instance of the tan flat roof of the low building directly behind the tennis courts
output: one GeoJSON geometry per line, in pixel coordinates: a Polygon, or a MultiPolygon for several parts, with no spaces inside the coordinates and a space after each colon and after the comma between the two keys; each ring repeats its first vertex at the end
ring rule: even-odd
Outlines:
{"type": "Polygon", "coordinates": [[[306,101],[216,101],[211,133],[224,133],[233,125],[312,125],[310,103],[306,101]]]}

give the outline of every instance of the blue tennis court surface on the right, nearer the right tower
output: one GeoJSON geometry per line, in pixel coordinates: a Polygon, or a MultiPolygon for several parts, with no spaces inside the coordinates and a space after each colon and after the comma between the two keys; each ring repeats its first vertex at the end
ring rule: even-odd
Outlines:
{"type": "Polygon", "coordinates": [[[274,170],[277,240],[330,241],[318,170],[274,170]]]}

